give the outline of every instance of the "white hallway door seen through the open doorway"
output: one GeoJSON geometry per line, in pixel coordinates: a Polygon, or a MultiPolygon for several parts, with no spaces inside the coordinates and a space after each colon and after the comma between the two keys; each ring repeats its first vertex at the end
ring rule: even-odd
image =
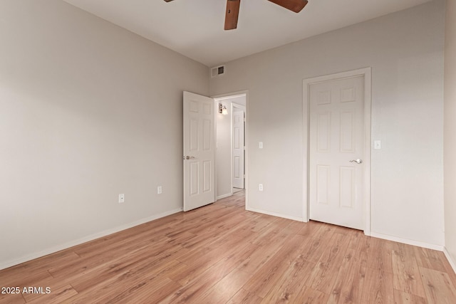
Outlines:
{"type": "Polygon", "coordinates": [[[244,110],[233,107],[233,187],[244,189],[244,110]]]}

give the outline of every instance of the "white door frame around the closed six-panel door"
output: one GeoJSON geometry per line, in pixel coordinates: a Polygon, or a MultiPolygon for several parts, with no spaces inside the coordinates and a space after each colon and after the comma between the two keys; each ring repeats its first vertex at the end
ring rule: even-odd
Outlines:
{"type": "Polygon", "coordinates": [[[309,161],[310,161],[310,85],[328,80],[364,77],[364,234],[371,235],[371,68],[361,68],[348,72],[323,75],[303,80],[303,143],[306,145],[303,151],[303,219],[309,221],[309,161]]]}

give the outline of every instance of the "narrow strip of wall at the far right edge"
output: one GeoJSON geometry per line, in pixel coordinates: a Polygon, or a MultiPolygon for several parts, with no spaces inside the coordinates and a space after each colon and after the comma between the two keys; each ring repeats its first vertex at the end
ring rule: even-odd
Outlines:
{"type": "Polygon", "coordinates": [[[445,248],[456,271],[456,3],[445,16],[445,248]]]}

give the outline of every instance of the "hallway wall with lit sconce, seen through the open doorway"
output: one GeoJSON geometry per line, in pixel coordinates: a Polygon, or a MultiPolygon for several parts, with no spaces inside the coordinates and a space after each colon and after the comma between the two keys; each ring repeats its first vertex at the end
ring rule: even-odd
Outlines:
{"type": "Polygon", "coordinates": [[[246,97],[235,96],[233,98],[224,98],[218,100],[218,103],[225,105],[228,115],[217,114],[217,154],[216,154],[216,171],[217,171],[217,197],[225,197],[232,194],[232,137],[231,137],[231,104],[246,105],[246,97]]]}

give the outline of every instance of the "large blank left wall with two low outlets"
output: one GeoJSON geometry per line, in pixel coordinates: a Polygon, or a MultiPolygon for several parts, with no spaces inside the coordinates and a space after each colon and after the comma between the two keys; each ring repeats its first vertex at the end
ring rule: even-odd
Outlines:
{"type": "Polygon", "coordinates": [[[58,0],[0,1],[0,41],[0,268],[182,207],[206,66],[58,0]]]}

